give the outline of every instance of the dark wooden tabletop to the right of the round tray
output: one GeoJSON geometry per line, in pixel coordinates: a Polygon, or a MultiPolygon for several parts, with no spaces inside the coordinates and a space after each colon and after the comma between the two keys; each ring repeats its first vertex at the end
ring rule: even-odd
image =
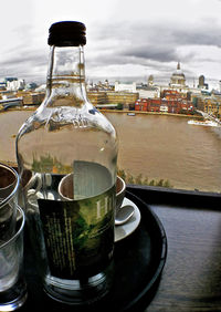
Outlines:
{"type": "Polygon", "coordinates": [[[146,311],[221,311],[221,211],[150,207],[166,230],[168,254],[146,311]]]}

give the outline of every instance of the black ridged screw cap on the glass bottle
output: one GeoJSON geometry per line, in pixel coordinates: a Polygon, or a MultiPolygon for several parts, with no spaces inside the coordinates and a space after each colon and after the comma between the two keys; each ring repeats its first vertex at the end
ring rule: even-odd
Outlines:
{"type": "Polygon", "coordinates": [[[49,45],[85,45],[86,27],[81,22],[62,21],[53,23],[49,29],[49,45]]]}

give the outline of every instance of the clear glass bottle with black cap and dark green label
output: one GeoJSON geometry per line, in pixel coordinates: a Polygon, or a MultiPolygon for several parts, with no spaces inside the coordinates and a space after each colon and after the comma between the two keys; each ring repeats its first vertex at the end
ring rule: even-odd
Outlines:
{"type": "Polygon", "coordinates": [[[87,100],[85,25],[51,25],[46,95],[17,136],[31,242],[48,294],[87,304],[113,275],[117,136],[87,100]]]}

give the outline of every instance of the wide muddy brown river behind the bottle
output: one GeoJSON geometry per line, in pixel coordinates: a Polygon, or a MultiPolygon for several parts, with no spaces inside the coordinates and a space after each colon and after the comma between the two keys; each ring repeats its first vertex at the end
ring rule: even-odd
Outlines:
{"type": "MultiPolygon", "coordinates": [[[[0,114],[0,160],[14,162],[15,135],[32,114],[0,114]]],[[[105,113],[119,138],[118,168],[173,188],[221,191],[221,127],[188,125],[187,117],[105,113]]]]}

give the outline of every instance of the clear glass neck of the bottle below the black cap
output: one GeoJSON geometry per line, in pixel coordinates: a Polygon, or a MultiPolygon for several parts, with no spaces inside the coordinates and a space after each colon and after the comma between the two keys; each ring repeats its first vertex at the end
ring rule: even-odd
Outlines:
{"type": "Polygon", "coordinates": [[[82,106],[86,101],[83,46],[51,46],[46,79],[50,106],[82,106]],[[64,101],[64,98],[71,98],[64,101]],[[59,104],[61,100],[62,105],[59,104]]]}

